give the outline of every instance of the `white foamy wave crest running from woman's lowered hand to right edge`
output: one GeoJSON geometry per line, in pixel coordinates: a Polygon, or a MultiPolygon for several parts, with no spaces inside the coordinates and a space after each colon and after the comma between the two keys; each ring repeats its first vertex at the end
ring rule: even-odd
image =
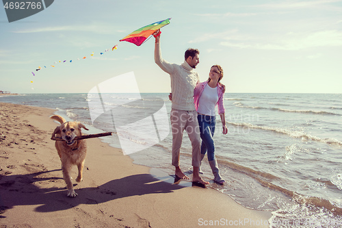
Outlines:
{"type": "Polygon", "coordinates": [[[311,134],[306,134],[303,131],[291,131],[289,129],[283,129],[280,127],[265,127],[259,125],[252,125],[251,123],[232,123],[227,122],[230,125],[238,126],[238,127],[248,127],[252,129],[262,129],[265,131],[274,131],[276,133],[285,134],[292,138],[302,138],[303,141],[313,140],[316,142],[324,142],[326,144],[335,145],[335,146],[342,146],[342,142],[335,138],[319,138],[317,136],[312,136],[311,134]]]}

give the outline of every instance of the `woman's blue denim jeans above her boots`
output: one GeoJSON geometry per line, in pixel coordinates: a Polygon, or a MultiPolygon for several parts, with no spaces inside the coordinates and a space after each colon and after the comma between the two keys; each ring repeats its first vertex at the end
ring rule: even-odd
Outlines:
{"type": "Polygon", "coordinates": [[[213,142],[213,134],[215,132],[215,116],[205,116],[198,114],[198,125],[200,126],[200,138],[202,138],[202,144],[200,146],[200,153],[207,153],[208,161],[215,159],[215,145],[213,142]]]}

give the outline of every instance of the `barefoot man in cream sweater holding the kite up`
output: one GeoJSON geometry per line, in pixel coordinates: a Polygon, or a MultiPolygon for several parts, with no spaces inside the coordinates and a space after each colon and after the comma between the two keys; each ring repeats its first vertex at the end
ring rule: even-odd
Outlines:
{"type": "Polygon", "coordinates": [[[200,178],[200,131],[197,121],[197,112],[194,105],[194,88],[199,81],[198,73],[194,71],[200,63],[199,51],[187,49],[183,64],[170,64],[161,58],[160,33],[155,34],[155,63],[166,73],[170,74],[172,90],[172,110],[170,113],[172,128],[172,165],[176,168],[175,174],[181,179],[189,179],[181,170],[179,156],[183,139],[183,131],[187,131],[192,142],[192,166],[194,173],[192,181],[202,184],[209,182],[200,178]]]}

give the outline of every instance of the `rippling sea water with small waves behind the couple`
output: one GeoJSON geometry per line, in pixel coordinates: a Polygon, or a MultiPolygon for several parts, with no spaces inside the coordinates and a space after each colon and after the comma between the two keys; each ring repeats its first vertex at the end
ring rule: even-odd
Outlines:
{"type": "MultiPolygon", "coordinates": [[[[114,131],[114,136],[102,138],[113,147],[121,147],[120,137],[147,144],[146,149],[130,154],[134,162],[173,175],[171,131],[152,145],[144,142],[146,137],[116,129],[119,122],[129,125],[153,116],[163,105],[170,116],[167,93],[140,96],[142,102],[136,101],[136,94],[103,94],[98,106],[92,103],[92,94],[22,94],[0,97],[0,102],[56,109],[69,120],[92,125],[92,133],[114,131]],[[94,110],[103,113],[96,120],[90,114],[94,110]]],[[[222,134],[220,116],[216,116],[214,141],[226,183],[219,186],[212,181],[205,159],[202,176],[210,181],[208,187],[245,207],[271,211],[271,227],[342,227],[342,94],[226,93],[224,106],[228,134],[222,134]]],[[[163,123],[170,129],[168,121],[163,123]]],[[[139,129],[149,125],[142,121],[139,129]]],[[[192,169],[191,154],[185,133],[181,167],[187,174],[192,169]]]]}

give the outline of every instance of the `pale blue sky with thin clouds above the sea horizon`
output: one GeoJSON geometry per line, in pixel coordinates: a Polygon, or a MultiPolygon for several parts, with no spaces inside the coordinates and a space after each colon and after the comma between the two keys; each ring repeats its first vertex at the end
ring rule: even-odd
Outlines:
{"type": "Polygon", "coordinates": [[[187,48],[199,49],[200,81],[219,64],[228,93],[342,91],[342,0],[56,0],[12,23],[1,8],[0,90],[87,93],[133,72],[136,81],[120,81],[118,92],[136,84],[140,92],[170,92],[153,37],[140,47],[119,42],[166,18],[163,58],[181,64],[187,48]]]}

